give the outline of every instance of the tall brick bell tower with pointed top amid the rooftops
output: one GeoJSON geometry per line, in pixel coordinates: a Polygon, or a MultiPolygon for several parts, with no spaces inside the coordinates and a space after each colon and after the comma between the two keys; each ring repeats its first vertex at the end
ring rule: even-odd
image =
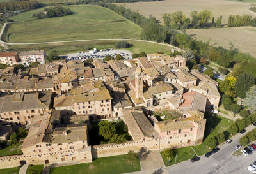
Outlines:
{"type": "Polygon", "coordinates": [[[136,68],[134,75],[135,75],[135,97],[141,98],[143,96],[143,73],[142,73],[140,64],[138,64],[138,67],[136,68]]]}

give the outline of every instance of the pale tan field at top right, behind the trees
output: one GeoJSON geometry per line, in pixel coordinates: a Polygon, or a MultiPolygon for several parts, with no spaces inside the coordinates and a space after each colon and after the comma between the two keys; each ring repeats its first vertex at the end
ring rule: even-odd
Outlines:
{"type": "MultiPolygon", "coordinates": [[[[255,0],[252,0],[255,1],[255,0]]],[[[256,3],[256,1],[255,1],[256,3]]],[[[224,1],[224,0],[164,0],[138,3],[120,3],[125,8],[137,11],[140,15],[148,17],[150,14],[162,21],[163,13],[173,13],[182,11],[187,17],[191,11],[209,10],[215,16],[223,16],[222,23],[227,24],[229,15],[252,15],[256,17],[256,13],[249,10],[252,3],[224,1]]]]}

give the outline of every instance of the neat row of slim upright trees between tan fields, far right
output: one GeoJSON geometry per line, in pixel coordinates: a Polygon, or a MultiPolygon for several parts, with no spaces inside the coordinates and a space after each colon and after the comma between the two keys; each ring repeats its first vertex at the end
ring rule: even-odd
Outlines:
{"type": "Polygon", "coordinates": [[[228,27],[243,27],[249,26],[252,22],[252,16],[250,15],[230,15],[228,17],[228,27]]]}

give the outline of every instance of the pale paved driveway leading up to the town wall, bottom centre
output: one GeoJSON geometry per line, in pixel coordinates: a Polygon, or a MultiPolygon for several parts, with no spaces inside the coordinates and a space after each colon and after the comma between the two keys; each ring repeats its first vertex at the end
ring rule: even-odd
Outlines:
{"type": "Polygon", "coordinates": [[[159,150],[148,150],[139,153],[141,173],[143,174],[165,174],[168,173],[159,150]]]}

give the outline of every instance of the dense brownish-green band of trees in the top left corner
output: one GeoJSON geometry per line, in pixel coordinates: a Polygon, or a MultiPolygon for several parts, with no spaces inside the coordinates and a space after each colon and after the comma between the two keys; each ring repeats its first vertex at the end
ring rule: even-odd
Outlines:
{"type": "Polygon", "coordinates": [[[14,11],[14,10],[31,10],[40,8],[41,3],[36,1],[10,1],[0,3],[0,10],[3,11],[14,11]]]}

